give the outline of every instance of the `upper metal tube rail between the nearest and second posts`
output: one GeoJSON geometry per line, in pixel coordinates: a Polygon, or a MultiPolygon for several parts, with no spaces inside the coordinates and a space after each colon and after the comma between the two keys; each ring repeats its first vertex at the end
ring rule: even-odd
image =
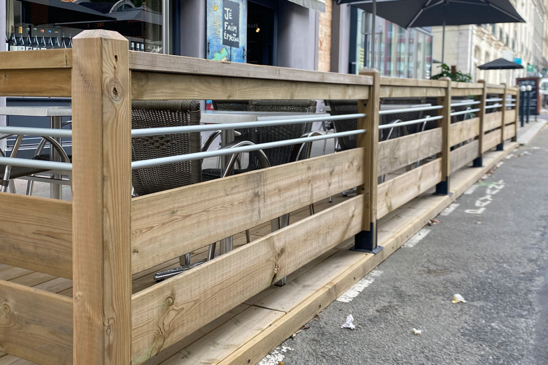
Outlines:
{"type": "Polygon", "coordinates": [[[258,128],[274,125],[310,123],[312,121],[324,120],[345,120],[366,117],[366,114],[344,114],[344,115],[324,115],[310,118],[294,118],[283,120],[264,120],[264,121],[242,121],[240,123],[217,123],[217,124],[202,124],[202,125],[184,125],[178,127],[162,127],[162,128],[142,128],[133,129],[132,137],[150,137],[167,134],[179,134],[190,132],[207,132],[226,129],[241,129],[241,128],[258,128]]]}

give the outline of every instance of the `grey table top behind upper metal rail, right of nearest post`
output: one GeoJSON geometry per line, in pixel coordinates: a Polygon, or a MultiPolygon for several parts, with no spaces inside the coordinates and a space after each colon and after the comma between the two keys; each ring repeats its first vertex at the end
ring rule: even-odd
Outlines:
{"type": "Polygon", "coordinates": [[[288,113],[288,112],[225,112],[207,111],[202,113],[201,123],[242,123],[244,121],[280,120],[294,118],[317,118],[328,113],[288,113]]]}

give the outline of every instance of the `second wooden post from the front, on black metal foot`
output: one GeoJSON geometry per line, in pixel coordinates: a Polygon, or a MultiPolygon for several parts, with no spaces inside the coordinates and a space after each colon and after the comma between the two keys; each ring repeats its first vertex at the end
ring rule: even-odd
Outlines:
{"type": "Polygon", "coordinates": [[[365,113],[365,118],[358,118],[358,129],[366,129],[366,134],[358,135],[358,147],[364,148],[363,174],[364,184],[358,187],[358,194],[364,198],[363,230],[355,236],[352,250],[377,253],[383,247],[377,246],[377,174],[379,152],[379,108],[380,108],[380,74],[373,68],[362,69],[361,75],[372,76],[373,85],[369,89],[369,100],[358,100],[358,113],[365,113]]]}

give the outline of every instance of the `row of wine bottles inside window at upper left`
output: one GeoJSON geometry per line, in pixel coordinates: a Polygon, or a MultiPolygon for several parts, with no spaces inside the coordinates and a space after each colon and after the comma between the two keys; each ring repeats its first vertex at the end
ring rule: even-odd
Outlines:
{"type": "Polygon", "coordinates": [[[72,33],[60,27],[33,27],[12,25],[11,33],[5,36],[5,50],[25,51],[35,49],[71,48],[72,33]],[[68,34],[68,36],[67,36],[68,34]]]}

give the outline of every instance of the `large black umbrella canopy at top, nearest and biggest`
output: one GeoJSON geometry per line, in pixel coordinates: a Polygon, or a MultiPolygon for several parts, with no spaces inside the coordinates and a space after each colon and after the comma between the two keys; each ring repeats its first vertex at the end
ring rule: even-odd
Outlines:
{"type": "MultiPolygon", "coordinates": [[[[372,0],[338,0],[373,11],[372,0]]],[[[401,27],[524,23],[509,0],[377,0],[376,15],[401,27]]]]}

